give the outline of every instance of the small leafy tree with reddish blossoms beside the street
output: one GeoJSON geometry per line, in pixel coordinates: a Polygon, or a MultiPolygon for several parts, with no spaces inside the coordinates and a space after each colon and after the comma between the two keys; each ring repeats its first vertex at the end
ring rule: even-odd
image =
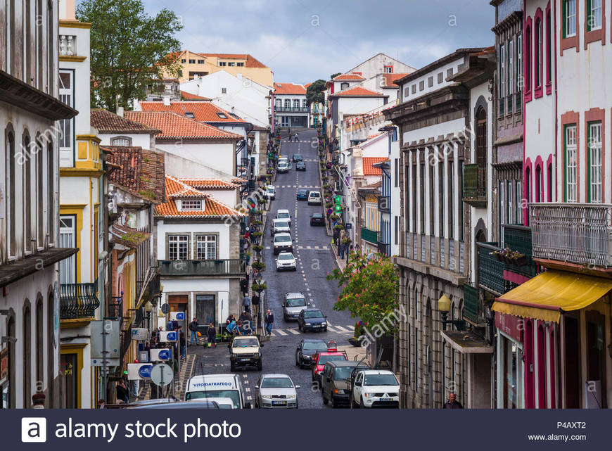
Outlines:
{"type": "Polygon", "coordinates": [[[376,255],[368,260],[362,253],[353,252],[344,271],[334,269],[327,279],[338,281],[342,288],[333,310],[348,310],[352,318],[362,319],[376,338],[397,331],[403,315],[397,296],[400,278],[388,257],[376,255]]]}

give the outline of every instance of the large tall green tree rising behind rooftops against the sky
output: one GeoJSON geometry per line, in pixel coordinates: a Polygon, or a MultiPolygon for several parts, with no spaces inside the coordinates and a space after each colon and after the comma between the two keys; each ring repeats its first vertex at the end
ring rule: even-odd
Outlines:
{"type": "Polygon", "coordinates": [[[91,23],[91,106],[115,111],[144,99],[148,82],[162,72],[176,76],[183,25],[164,8],[154,17],[142,0],[84,0],[77,19],[91,23]]]}

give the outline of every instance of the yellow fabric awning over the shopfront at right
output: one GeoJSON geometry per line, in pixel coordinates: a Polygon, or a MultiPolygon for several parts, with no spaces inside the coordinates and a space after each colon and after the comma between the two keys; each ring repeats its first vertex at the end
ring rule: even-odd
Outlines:
{"type": "Polygon", "coordinates": [[[612,279],[547,271],[499,298],[491,310],[523,318],[559,322],[561,312],[580,310],[612,290],[612,279]]]}

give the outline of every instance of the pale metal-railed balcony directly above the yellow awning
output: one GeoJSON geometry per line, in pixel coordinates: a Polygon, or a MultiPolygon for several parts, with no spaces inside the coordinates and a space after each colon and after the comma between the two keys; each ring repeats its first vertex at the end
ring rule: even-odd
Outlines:
{"type": "Polygon", "coordinates": [[[587,267],[612,266],[612,205],[529,205],[533,258],[587,267]]]}

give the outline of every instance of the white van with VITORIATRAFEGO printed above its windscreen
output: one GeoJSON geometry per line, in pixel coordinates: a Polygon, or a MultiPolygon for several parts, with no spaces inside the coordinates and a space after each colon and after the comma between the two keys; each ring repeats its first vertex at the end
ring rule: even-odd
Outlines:
{"type": "Polygon", "coordinates": [[[185,400],[229,398],[234,409],[250,409],[240,377],[236,374],[205,374],[193,376],[187,382],[185,400]]]}

